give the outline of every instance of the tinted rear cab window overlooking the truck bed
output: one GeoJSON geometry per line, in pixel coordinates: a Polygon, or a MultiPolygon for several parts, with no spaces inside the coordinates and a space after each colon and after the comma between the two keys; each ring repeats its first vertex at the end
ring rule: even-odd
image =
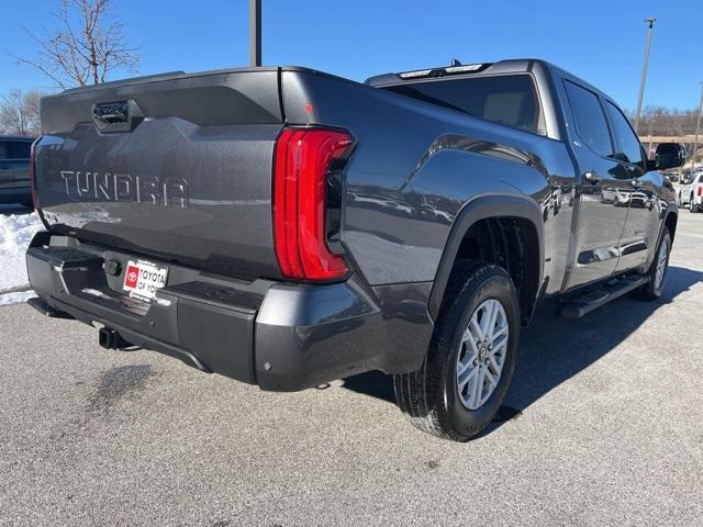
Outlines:
{"type": "Polygon", "coordinates": [[[526,132],[545,135],[535,83],[529,75],[448,78],[383,89],[458,110],[526,132]]]}

